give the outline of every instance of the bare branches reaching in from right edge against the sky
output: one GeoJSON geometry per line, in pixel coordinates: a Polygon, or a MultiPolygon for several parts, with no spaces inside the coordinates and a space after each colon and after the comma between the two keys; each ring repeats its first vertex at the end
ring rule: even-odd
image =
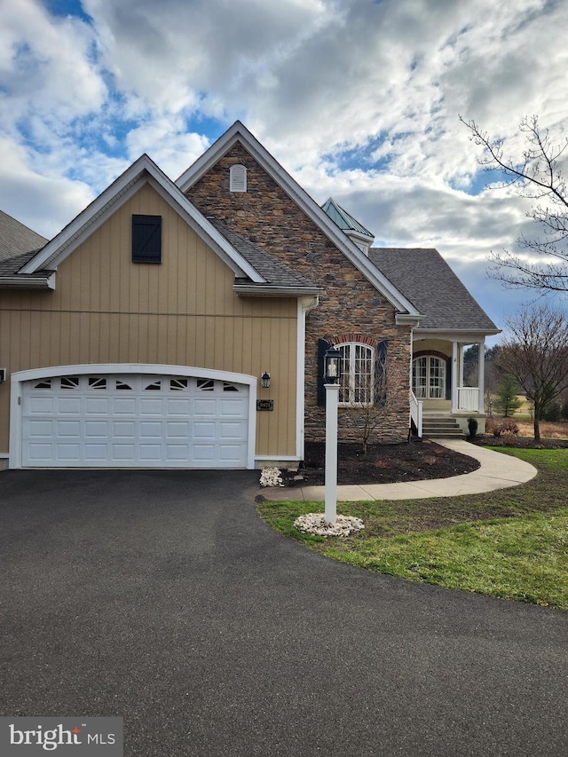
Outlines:
{"type": "Polygon", "coordinates": [[[527,145],[522,156],[515,159],[505,153],[501,139],[492,140],[475,121],[465,121],[461,116],[460,121],[468,127],[469,138],[483,147],[480,165],[485,170],[500,171],[504,177],[492,186],[513,186],[520,196],[537,201],[526,215],[540,225],[542,234],[535,239],[522,234],[517,242],[521,249],[540,257],[540,262],[528,262],[507,250],[492,253],[489,275],[509,288],[535,289],[540,294],[568,292],[568,193],[560,166],[568,139],[554,145],[536,115],[525,117],[519,129],[527,145]]]}

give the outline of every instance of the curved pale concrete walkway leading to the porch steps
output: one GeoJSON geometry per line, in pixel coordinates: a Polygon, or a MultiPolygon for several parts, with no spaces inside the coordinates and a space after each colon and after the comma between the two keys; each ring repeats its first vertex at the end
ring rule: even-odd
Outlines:
{"type": "MultiPolygon", "coordinates": [[[[469,444],[464,439],[436,439],[440,445],[461,454],[467,454],[481,463],[473,473],[452,478],[433,478],[426,481],[408,481],[401,484],[360,484],[337,486],[337,500],[422,500],[427,497],[456,497],[460,494],[478,494],[525,484],[537,474],[528,462],[509,454],[494,452],[485,447],[469,444]]],[[[298,486],[295,489],[263,488],[259,492],[266,500],[324,501],[324,486],[298,486]]]]}

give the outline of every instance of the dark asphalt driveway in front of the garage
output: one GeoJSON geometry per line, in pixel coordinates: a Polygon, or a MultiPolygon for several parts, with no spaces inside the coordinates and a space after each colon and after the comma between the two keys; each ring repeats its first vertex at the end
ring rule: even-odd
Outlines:
{"type": "Polygon", "coordinates": [[[257,482],[0,474],[0,714],[121,716],[129,757],[568,753],[568,612],[335,564],[257,482]]]}

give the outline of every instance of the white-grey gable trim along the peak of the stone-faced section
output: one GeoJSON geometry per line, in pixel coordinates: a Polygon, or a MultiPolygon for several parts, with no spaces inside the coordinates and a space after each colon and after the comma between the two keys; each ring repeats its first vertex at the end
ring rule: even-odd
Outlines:
{"type": "Polygon", "coordinates": [[[386,276],[383,276],[383,273],[371,263],[355,242],[351,241],[347,234],[343,232],[343,229],[327,216],[327,213],[319,207],[318,203],[280,166],[280,163],[272,157],[266,148],[260,144],[256,137],[240,121],[234,122],[233,126],[225,131],[225,134],[218,138],[201,157],[193,162],[177,178],[176,185],[182,193],[185,193],[198,179],[207,173],[237,142],[241,143],[256,162],[288,194],[288,197],[304,210],[304,213],[319,226],[319,229],[327,236],[327,239],[332,241],[335,247],[343,252],[343,255],[389,300],[390,304],[398,311],[406,311],[415,318],[420,316],[420,313],[410,300],[406,299],[406,296],[402,292],[399,292],[386,276]]]}

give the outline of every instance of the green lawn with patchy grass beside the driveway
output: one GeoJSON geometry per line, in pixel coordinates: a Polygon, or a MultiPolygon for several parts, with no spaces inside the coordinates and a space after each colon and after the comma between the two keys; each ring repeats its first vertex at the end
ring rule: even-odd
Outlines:
{"type": "Polygon", "coordinates": [[[367,570],[568,610],[568,449],[500,452],[539,475],[500,492],[431,500],[343,502],[365,531],[348,539],[297,532],[296,516],[322,503],[263,502],[276,531],[367,570]]]}

